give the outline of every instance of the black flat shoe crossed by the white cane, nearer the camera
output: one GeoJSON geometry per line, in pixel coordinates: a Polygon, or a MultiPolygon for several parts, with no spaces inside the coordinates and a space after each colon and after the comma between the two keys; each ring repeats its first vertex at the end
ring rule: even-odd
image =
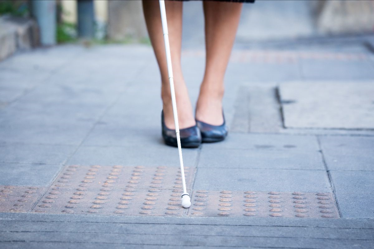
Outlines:
{"type": "MultiPolygon", "coordinates": [[[[178,147],[175,130],[169,129],[165,125],[163,111],[161,112],[162,137],[169,146],[178,147]]],[[[188,128],[179,129],[181,146],[184,148],[196,148],[201,144],[201,134],[199,128],[194,125],[188,128]]]]}

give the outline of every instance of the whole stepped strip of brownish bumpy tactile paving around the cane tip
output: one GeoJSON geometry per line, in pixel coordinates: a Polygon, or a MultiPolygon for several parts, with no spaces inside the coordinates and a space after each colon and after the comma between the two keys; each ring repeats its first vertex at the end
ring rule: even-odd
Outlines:
{"type": "Polygon", "coordinates": [[[70,165],[48,189],[0,186],[0,212],[339,218],[332,193],[191,190],[195,169],[185,174],[189,209],[177,167],[70,165]]]}

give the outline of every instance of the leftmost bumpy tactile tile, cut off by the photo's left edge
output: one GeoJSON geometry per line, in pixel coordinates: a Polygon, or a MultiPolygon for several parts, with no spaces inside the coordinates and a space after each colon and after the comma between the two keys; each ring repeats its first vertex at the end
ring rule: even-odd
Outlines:
{"type": "Polygon", "coordinates": [[[28,212],[45,192],[36,186],[0,186],[0,212],[28,212]]]}

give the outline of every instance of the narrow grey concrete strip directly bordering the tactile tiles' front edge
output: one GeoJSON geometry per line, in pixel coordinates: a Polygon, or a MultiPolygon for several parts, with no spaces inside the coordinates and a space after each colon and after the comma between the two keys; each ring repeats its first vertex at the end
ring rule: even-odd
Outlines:
{"type": "MultiPolygon", "coordinates": [[[[66,224],[74,225],[75,223],[92,223],[93,221],[99,223],[108,223],[114,225],[121,224],[146,224],[150,220],[147,216],[104,216],[104,215],[76,215],[76,214],[31,214],[19,213],[13,214],[0,213],[1,221],[26,221],[26,222],[41,222],[47,223],[50,221],[65,222],[66,224]]],[[[250,227],[268,227],[269,222],[272,222],[274,227],[314,227],[318,225],[320,228],[337,228],[337,229],[374,229],[374,221],[372,219],[283,219],[267,217],[258,218],[252,217],[249,223],[243,220],[243,217],[220,217],[219,219],[213,217],[152,217],[153,224],[191,224],[191,225],[227,225],[231,226],[250,226],[250,227]]]]}

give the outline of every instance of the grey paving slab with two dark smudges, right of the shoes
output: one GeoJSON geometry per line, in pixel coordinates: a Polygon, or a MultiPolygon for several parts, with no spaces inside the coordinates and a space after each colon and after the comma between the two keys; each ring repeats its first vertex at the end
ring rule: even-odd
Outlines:
{"type": "Polygon", "coordinates": [[[243,134],[230,133],[220,143],[205,143],[204,149],[273,149],[319,150],[315,136],[290,136],[284,134],[243,134]]]}

